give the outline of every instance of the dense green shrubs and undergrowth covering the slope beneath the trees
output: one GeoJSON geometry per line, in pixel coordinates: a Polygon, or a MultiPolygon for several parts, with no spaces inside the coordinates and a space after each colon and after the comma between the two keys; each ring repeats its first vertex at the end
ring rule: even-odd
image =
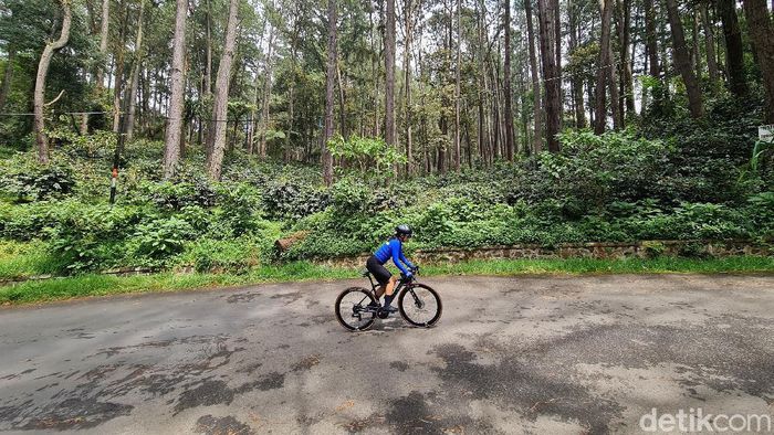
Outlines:
{"type": "MultiPolygon", "coordinates": [[[[638,240],[768,243],[771,152],[753,167],[753,130],[723,119],[709,131],[693,123],[670,125],[670,137],[567,130],[561,152],[411,179],[391,180],[378,167],[343,159],[347,169],[330,188],[316,166],[262,162],[239,149],[227,156],[222,181],[202,174],[197,152],[165,180],[161,144],[137,140],[125,150],[115,205],[107,202],[106,171],[114,137],[71,137],[54,150],[56,165],[39,167],[30,151],[0,161],[0,278],[127,266],[245,273],[369,252],[399,222],[416,230],[409,251],[638,240]],[[301,234],[299,242],[276,251],[274,241],[292,234],[301,234]]],[[[364,149],[349,159],[378,158],[364,149]]]]}

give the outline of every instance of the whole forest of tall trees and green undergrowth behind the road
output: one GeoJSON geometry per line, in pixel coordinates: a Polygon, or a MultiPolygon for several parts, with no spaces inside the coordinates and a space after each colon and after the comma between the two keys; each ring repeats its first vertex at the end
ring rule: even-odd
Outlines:
{"type": "Polygon", "coordinates": [[[772,9],[0,0],[0,279],[352,256],[397,223],[411,251],[770,244],[772,9]]]}

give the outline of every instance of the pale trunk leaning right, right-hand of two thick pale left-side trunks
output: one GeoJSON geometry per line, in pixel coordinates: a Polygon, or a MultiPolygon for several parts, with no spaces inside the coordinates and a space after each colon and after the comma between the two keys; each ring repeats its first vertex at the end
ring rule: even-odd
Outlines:
{"type": "Polygon", "coordinates": [[[234,44],[237,41],[237,22],[239,18],[239,0],[229,1],[229,21],[226,26],[226,43],[223,54],[218,65],[218,76],[215,82],[215,103],[212,105],[213,134],[208,138],[207,171],[212,180],[220,180],[226,152],[226,129],[228,128],[229,85],[231,63],[233,62],[234,44]]]}

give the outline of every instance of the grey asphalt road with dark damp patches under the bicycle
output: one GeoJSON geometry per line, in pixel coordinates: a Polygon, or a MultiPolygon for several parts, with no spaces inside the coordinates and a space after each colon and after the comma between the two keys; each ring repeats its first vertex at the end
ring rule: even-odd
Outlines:
{"type": "Polygon", "coordinates": [[[423,279],[436,328],[336,321],[359,282],[0,309],[0,431],[637,433],[774,415],[774,276],[423,279]]]}

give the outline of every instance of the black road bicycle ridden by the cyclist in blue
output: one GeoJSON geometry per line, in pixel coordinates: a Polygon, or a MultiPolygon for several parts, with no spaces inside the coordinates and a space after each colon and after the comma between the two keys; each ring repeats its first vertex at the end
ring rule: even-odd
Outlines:
{"type": "MultiPolygon", "coordinates": [[[[415,276],[410,278],[400,274],[394,294],[397,295],[400,316],[406,321],[417,327],[429,328],[441,318],[443,306],[438,291],[417,282],[418,272],[419,268],[415,268],[415,276]]],[[[378,285],[374,283],[370,272],[364,270],[362,275],[370,282],[370,290],[363,287],[346,288],[338,295],[335,305],[336,318],[344,328],[353,331],[365,331],[374,325],[377,317],[389,317],[389,311],[376,303],[378,285]]]]}

